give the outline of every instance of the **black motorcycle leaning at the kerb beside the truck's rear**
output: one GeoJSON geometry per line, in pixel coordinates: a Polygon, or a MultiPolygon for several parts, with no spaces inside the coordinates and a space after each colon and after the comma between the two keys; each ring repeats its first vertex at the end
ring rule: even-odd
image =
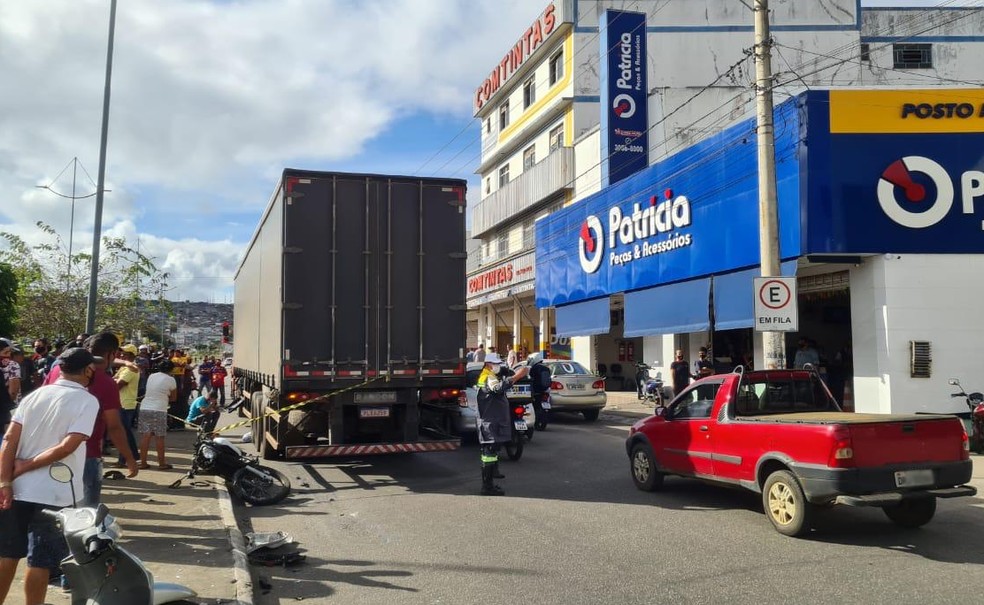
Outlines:
{"type": "Polygon", "coordinates": [[[254,506],[276,504],[290,494],[290,479],[286,475],[262,466],[255,456],[239,449],[225,437],[213,437],[204,429],[198,430],[191,469],[171,487],[178,487],[182,481],[193,479],[199,473],[222,477],[230,483],[233,493],[254,506]]]}

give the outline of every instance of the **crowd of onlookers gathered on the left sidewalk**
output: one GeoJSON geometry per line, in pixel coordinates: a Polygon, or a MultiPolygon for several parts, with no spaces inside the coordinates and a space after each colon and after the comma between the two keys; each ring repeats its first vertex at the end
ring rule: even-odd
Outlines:
{"type": "Polygon", "coordinates": [[[0,603],[23,558],[25,602],[44,602],[67,546],[43,511],[71,506],[73,494],[81,506],[100,502],[107,442],[126,477],[152,468],[152,441],[156,468],[169,470],[168,430],[213,430],[225,399],[227,372],[212,357],[196,368],[180,349],[122,344],[112,332],[27,349],[0,338],[0,603]],[[55,462],[71,469],[74,490],[49,476],[55,462]]]}

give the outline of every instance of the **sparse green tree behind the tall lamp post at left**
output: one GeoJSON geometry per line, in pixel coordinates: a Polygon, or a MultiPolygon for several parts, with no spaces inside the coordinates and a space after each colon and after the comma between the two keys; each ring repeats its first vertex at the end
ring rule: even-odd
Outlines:
{"type": "MultiPolygon", "coordinates": [[[[9,265],[17,280],[13,333],[19,337],[74,338],[85,329],[92,255],[78,252],[68,258],[62,237],[50,226],[37,223],[41,243],[0,232],[7,247],[0,263],[9,265]]],[[[170,316],[163,300],[168,274],[153,260],[127,245],[123,238],[104,237],[99,256],[96,329],[124,338],[148,333],[170,316]]]]}

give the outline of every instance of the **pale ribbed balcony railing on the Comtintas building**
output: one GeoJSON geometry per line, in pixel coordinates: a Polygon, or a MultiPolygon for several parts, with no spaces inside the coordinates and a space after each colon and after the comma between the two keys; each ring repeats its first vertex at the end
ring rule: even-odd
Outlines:
{"type": "Polygon", "coordinates": [[[494,229],[558,192],[574,188],[574,148],[560,147],[472,209],[472,237],[494,229]]]}

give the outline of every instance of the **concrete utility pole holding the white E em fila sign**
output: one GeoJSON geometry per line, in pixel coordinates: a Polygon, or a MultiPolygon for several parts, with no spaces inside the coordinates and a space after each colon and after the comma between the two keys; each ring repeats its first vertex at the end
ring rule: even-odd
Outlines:
{"type": "MultiPolygon", "coordinates": [[[[776,203],[776,141],[772,117],[772,37],[769,33],[769,0],[753,0],[755,14],[755,109],[758,132],[759,255],[762,277],[781,275],[779,264],[779,213],[776,203]]],[[[786,366],[786,342],[782,332],[763,332],[765,368],[786,366]]]]}

